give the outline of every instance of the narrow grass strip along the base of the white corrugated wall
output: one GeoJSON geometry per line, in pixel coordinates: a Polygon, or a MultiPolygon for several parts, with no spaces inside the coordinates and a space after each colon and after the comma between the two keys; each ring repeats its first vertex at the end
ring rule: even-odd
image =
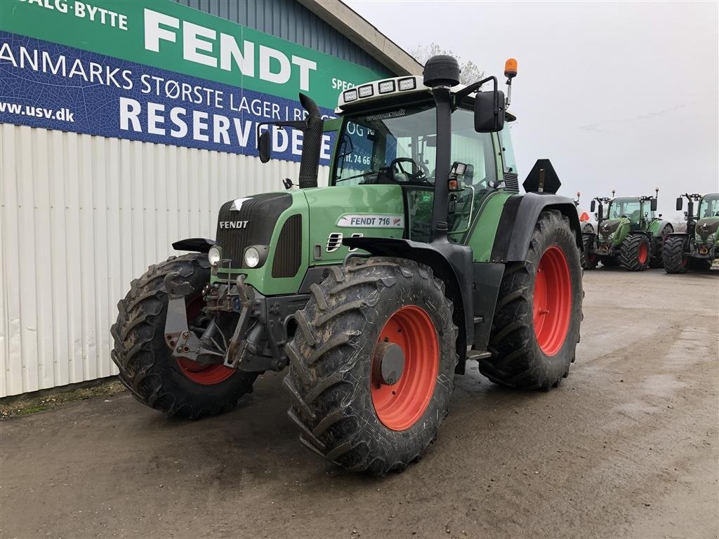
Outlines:
{"type": "Polygon", "coordinates": [[[0,399],[0,420],[12,418],[15,415],[32,415],[45,410],[78,400],[88,400],[95,397],[111,397],[125,391],[122,383],[113,378],[99,383],[79,384],[75,386],[42,390],[15,397],[0,399]]]}

